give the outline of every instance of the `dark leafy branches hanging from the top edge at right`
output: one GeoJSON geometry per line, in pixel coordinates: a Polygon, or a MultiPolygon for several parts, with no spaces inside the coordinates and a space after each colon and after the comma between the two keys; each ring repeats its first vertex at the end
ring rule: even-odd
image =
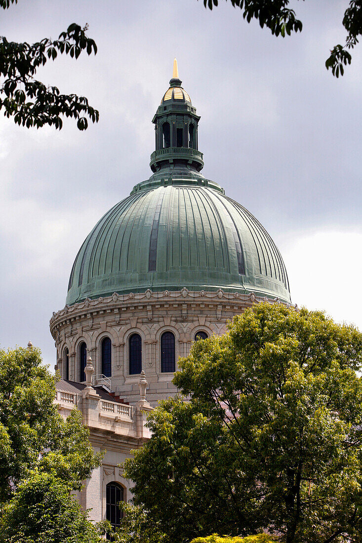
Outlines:
{"type": "MultiPolygon", "coordinates": [[[[230,0],[232,5],[242,10],[242,16],[249,23],[257,19],[261,28],[267,27],[276,36],[290,36],[292,32],[302,31],[302,22],[296,18],[295,11],[288,6],[290,0],[230,0]]],[[[219,0],[204,0],[205,8],[213,9],[219,0]]],[[[336,77],[344,74],[344,66],[351,64],[351,53],[362,34],[362,0],[350,0],[342,24],[347,30],[345,45],[335,45],[326,60],[326,68],[332,68],[336,77]]]]}

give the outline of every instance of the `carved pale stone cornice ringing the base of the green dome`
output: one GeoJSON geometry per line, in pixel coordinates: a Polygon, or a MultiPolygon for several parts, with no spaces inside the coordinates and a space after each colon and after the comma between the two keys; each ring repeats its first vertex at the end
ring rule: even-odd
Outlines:
{"type": "Polygon", "coordinates": [[[49,321],[51,332],[62,323],[72,321],[79,318],[81,315],[89,317],[92,313],[106,312],[118,313],[118,308],[124,306],[134,306],[139,304],[156,304],[159,302],[167,304],[168,302],[179,302],[187,304],[188,302],[204,302],[215,304],[234,304],[241,307],[251,307],[254,303],[268,301],[272,304],[283,303],[288,307],[296,307],[288,304],[279,298],[267,298],[257,296],[253,292],[248,294],[240,294],[239,292],[225,292],[221,288],[217,291],[189,291],[187,288],[182,288],[180,291],[163,291],[153,292],[147,289],[145,292],[117,294],[114,292],[111,296],[101,296],[96,299],[86,298],[84,301],[73,305],[66,305],[63,309],[53,312],[52,318],[49,321]]]}

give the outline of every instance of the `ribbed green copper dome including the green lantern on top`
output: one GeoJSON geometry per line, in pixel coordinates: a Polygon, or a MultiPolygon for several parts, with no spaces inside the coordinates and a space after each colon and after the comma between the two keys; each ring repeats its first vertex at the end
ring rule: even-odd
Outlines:
{"type": "Polygon", "coordinates": [[[195,108],[169,102],[166,107],[163,100],[153,118],[153,175],[105,213],[85,239],[66,303],[183,287],[290,302],[285,266],[269,234],[199,173],[203,156],[195,108]]]}

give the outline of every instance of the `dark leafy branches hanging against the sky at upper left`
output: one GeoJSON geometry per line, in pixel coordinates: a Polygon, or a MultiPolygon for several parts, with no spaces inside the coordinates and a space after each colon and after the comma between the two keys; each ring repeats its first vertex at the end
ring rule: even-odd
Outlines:
{"type": "MultiPolygon", "coordinates": [[[[0,0],[0,7],[8,9],[17,0],[0,0]]],[[[99,112],[88,99],[77,94],[60,94],[55,86],[46,86],[35,79],[36,70],[60,54],[78,58],[82,51],[97,53],[94,40],[86,35],[88,26],[71,24],[58,40],[45,38],[39,42],[15,43],[0,36],[0,110],[15,123],[26,127],[54,125],[61,129],[61,116],[77,119],[79,130],[88,128],[88,119],[98,122],[99,112]]]]}

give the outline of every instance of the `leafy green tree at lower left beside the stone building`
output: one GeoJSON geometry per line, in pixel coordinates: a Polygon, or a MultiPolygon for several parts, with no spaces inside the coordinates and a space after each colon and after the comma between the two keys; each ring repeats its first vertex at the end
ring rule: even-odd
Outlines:
{"type": "Polygon", "coordinates": [[[82,414],[64,420],[55,393],[38,349],[0,350],[1,543],[101,541],[72,496],[101,457],[82,414]]]}

